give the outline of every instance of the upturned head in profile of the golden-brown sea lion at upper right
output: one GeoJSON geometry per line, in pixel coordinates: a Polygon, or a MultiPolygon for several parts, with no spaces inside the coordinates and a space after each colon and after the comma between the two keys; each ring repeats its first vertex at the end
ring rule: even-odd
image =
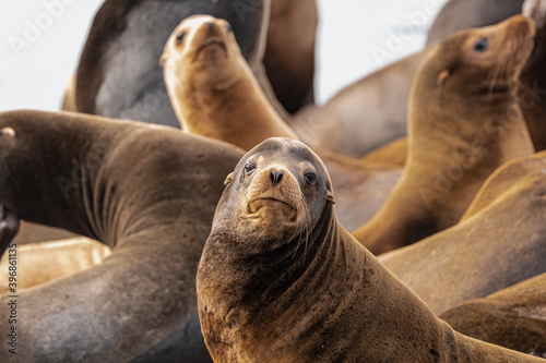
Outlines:
{"type": "MultiPolygon", "coordinates": [[[[458,32],[425,61],[430,83],[441,89],[473,94],[515,92],[518,77],[534,46],[531,19],[515,15],[502,23],[458,32]]],[[[459,92],[460,93],[460,92],[459,92]]]]}

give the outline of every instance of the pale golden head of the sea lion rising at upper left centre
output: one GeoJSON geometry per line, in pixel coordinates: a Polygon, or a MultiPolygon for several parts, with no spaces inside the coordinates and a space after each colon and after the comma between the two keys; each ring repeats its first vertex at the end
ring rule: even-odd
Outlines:
{"type": "Polygon", "coordinates": [[[161,64],[167,85],[185,83],[222,90],[237,80],[237,69],[246,62],[232,26],[210,15],[186,19],[167,40],[161,64]]]}

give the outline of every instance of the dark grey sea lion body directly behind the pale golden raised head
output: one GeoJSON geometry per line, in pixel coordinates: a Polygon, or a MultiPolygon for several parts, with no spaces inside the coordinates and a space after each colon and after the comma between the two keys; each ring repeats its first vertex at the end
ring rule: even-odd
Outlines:
{"type": "Polygon", "coordinates": [[[93,20],[75,73],[78,111],[179,128],[157,65],[173,29],[193,14],[226,19],[245,59],[258,72],[270,5],[270,0],[106,0],[93,20]]]}

